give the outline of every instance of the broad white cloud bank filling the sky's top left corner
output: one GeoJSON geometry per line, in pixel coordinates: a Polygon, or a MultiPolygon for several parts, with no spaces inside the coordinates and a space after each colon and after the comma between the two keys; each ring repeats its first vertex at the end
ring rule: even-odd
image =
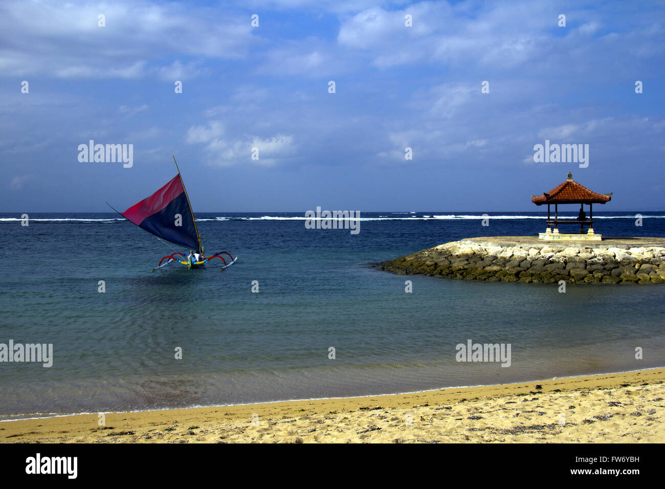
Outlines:
{"type": "Polygon", "coordinates": [[[187,79],[196,63],[165,57],[241,59],[255,43],[249,22],[215,7],[150,0],[112,4],[9,0],[0,3],[5,75],[66,79],[187,79]],[[98,26],[98,15],[106,26],[98,26]]]}

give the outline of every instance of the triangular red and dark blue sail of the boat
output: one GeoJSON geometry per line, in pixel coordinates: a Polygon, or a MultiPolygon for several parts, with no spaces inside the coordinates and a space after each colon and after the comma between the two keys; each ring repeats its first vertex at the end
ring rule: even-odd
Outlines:
{"type": "Polygon", "coordinates": [[[180,173],[160,190],[120,214],[159,238],[201,251],[201,238],[180,173]]]}

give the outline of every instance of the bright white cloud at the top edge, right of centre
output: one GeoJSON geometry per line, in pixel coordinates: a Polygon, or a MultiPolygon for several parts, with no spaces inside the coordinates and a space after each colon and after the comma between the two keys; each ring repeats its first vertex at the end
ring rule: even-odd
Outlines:
{"type": "Polygon", "coordinates": [[[474,11],[470,2],[420,2],[399,11],[373,7],[346,19],[337,42],[348,49],[364,50],[372,65],[388,68],[426,61],[511,67],[537,56],[545,35],[541,5],[501,4],[474,11]],[[412,27],[404,25],[412,15],[412,27]]]}

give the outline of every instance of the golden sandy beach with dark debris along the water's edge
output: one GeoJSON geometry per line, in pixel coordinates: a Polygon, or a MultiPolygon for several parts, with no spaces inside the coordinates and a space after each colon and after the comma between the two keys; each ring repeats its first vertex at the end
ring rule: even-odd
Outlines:
{"type": "Polygon", "coordinates": [[[3,442],[664,442],[665,369],[422,393],[76,414],[0,423],[3,442]]]}

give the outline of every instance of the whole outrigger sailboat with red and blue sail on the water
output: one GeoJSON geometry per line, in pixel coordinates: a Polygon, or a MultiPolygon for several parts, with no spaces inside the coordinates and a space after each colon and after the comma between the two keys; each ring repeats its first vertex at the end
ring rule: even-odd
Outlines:
{"type": "Polygon", "coordinates": [[[151,196],[137,202],[125,212],[118,212],[108,202],[106,204],[132,224],[157,236],[158,240],[165,240],[190,250],[188,254],[176,251],[162,257],[152,271],[162,268],[172,261],[187,265],[190,269],[198,268],[214,258],[221,259],[222,270],[230,267],[238,257],[233,258],[227,251],[219,251],[211,256],[203,254],[203,245],[201,245],[201,236],[196,226],[192,204],[190,204],[185,184],[182,182],[175,156],[173,161],[178,174],[151,196]],[[194,251],[195,249],[196,251],[194,251]],[[226,255],[229,261],[223,255],[226,255]]]}

